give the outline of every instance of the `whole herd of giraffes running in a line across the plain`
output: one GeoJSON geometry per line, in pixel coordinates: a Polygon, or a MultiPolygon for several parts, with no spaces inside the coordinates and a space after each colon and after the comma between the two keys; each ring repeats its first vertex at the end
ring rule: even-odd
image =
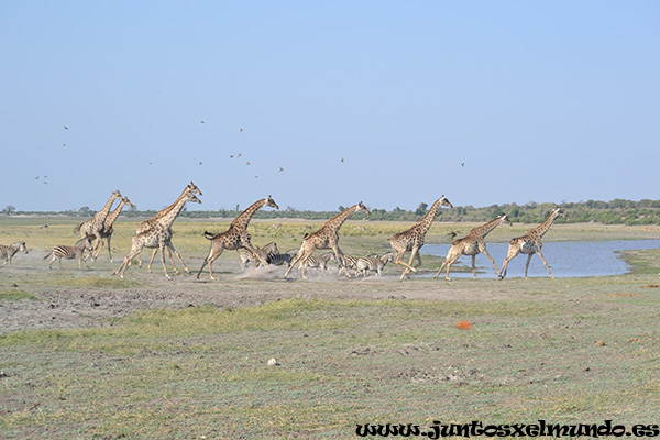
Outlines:
{"type": "MultiPolygon", "coordinates": [[[[172,277],[169,276],[167,266],[165,264],[165,252],[167,252],[169,256],[172,267],[174,268],[175,273],[178,273],[178,271],[172,256],[173,253],[177,256],[184,270],[188,274],[190,274],[190,271],[184,263],[184,260],[182,258],[180,254],[172,244],[172,224],[179,216],[184,206],[187,202],[191,201],[196,204],[201,204],[201,200],[197,196],[201,196],[201,190],[193,182],[190,182],[190,184],[186,186],[182,195],[170,206],[160,211],[153,218],[140,223],[138,226],[135,235],[132,239],[131,251],[123,258],[122,264],[117,268],[117,271],[112,273],[112,275],[119,275],[121,278],[123,278],[127,268],[131,266],[132,261],[135,257],[138,257],[139,265],[142,267],[142,258],[140,254],[144,248],[153,249],[153,254],[148,263],[150,272],[156,253],[161,251],[163,271],[165,272],[165,276],[168,279],[172,279],[172,277]]],[[[79,224],[76,228],[76,231],[80,232],[81,241],[88,241],[87,245],[89,245],[89,256],[92,258],[92,261],[96,257],[98,257],[103,246],[103,240],[106,240],[108,242],[110,262],[112,262],[112,252],[110,250],[110,240],[113,232],[112,224],[114,223],[125,205],[133,207],[131,201],[127,197],[123,197],[119,190],[117,190],[112,193],[108,202],[92,219],[79,224]],[[118,207],[112,212],[110,212],[112,205],[116,200],[120,200],[120,202],[118,207]],[[94,240],[96,240],[96,244],[92,246],[91,241],[94,240]]],[[[252,217],[257,210],[260,210],[263,207],[272,207],[275,209],[279,209],[275,200],[273,200],[273,198],[268,196],[267,198],[257,200],[256,202],[252,204],[248,209],[245,209],[239,217],[237,217],[231,222],[227,231],[218,234],[211,234],[208,232],[205,233],[205,237],[211,241],[211,246],[208,256],[202,262],[197,277],[199,277],[202,270],[208,264],[209,276],[211,279],[216,279],[216,277],[213,276],[212,264],[213,261],[216,261],[226,250],[246,250],[249,253],[252,254],[252,261],[254,261],[255,267],[257,262],[260,262],[264,266],[266,265],[264,257],[260,255],[257,249],[255,249],[252,245],[250,241],[250,232],[248,232],[248,226],[250,224],[252,217]]],[[[410,229],[396,233],[394,237],[387,240],[394,251],[393,262],[402,270],[402,275],[399,279],[403,280],[406,276],[408,276],[410,272],[417,272],[417,270],[413,266],[413,262],[417,258],[418,264],[421,263],[419,251],[424,246],[426,233],[430,229],[433,219],[436,218],[436,213],[441,207],[453,208],[448,198],[442,196],[438,200],[436,200],[436,202],[431,206],[429,211],[420,221],[415,223],[410,229]],[[407,252],[410,252],[410,258],[406,263],[404,261],[404,256],[407,252]]],[[[336,261],[340,266],[340,271],[343,270],[346,277],[351,277],[351,274],[349,273],[346,267],[346,258],[349,256],[344,255],[339,248],[339,229],[351,216],[358,212],[371,215],[370,210],[361,201],[358,205],[345,209],[337,217],[328,220],[318,231],[305,234],[302,239],[302,245],[300,246],[300,250],[298,251],[296,256],[292,258],[289,267],[287,268],[284,277],[288,278],[292,270],[297,264],[299,264],[302,277],[307,278],[305,267],[312,260],[312,253],[316,250],[321,249],[331,250],[333,256],[337,258],[336,261]]],[[[550,229],[554,220],[560,216],[562,216],[560,209],[553,209],[544,222],[534,228],[525,235],[512,239],[509,241],[507,256],[501,270],[497,270],[495,261],[493,260],[493,257],[491,257],[486,250],[485,237],[498,226],[512,226],[512,222],[507,219],[506,215],[502,215],[486,224],[474,228],[470,231],[468,235],[463,237],[462,239],[458,239],[452,243],[444,262],[442,263],[433,278],[440,276],[442,270],[444,268],[444,266],[447,266],[447,273],[444,278],[450,280],[451,278],[449,277],[449,271],[451,265],[460,256],[470,255],[472,256],[472,273],[474,275],[474,279],[476,279],[475,257],[480,253],[483,253],[491,261],[493,267],[495,268],[495,272],[497,273],[498,279],[504,279],[504,277],[506,276],[508,263],[518,254],[527,255],[527,264],[525,266],[525,278],[527,278],[529,261],[531,260],[531,256],[534,254],[539,255],[539,257],[543,262],[543,265],[548,270],[548,274],[550,275],[550,277],[554,278],[552,272],[550,272],[550,267],[548,266],[546,258],[543,257],[541,248],[543,245],[543,235],[550,229]]],[[[78,253],[81,254],[84,252],[80,251],[78,253]]],[[[381,270],[378,268],[378,273],[381,270]]]]}

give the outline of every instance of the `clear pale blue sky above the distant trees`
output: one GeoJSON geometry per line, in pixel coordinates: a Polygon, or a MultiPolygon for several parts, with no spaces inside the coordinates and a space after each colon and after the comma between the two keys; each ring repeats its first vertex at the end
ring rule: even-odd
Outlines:
{"type": "Polygon", "coordinates": [[[658,1],[2,0],[0,66],[0,209],[660,198],[658,1]]]}

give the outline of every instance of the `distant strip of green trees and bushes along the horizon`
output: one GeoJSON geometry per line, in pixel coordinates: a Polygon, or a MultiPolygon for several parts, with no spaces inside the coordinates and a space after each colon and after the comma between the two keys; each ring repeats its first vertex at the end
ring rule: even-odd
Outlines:
{"type": "MultiPolygon", "coordinates": [[[[491,205],[490,207],[475,208],[473,206],[457,206],[453,209],[442,208],[438,212],[437,221],[465,221],[465,222],[487,222],[496,216],[506,213],[509,219],[518,223],[540,223],[554,208],[560,207],[565,213],[565,217],[559,218],[558,223],[581,223],[581,222],[598,222],[604,224],[660,224],[660,200],[642,199],[639,201],[614,199],[610,201],[587,200],[580,202],[562,202],[562,204],[537,204],[530,201],[525,205],[505,204],[491,205]]],[[[9,208],[9,206],[8,206],[9,208]]],[[[61,212],[28,212],[12,209],[4,209],[6,215],[45,215],[45,216],[74,216],[74,217],[91,217],[96,211],[89,207],[74,209],[61,212]]],[[[182,217],[185,218],[235,218],[242,210],[239,209],[219,209],[217,211],[182,211],[182,217]]],[[[422,202],[415,210],[406,210],[394,208],[388,211],[385,209],[371,208],[370,217],[359,213],[352,219],[365,219],[370,221],[418,221],[428,212],[429,205],[422,202]]],[[[343,206],[338,207],[337,211],[310,211],[298,210],[293,207],[287,207],[280,210],[260,210],[255,213],[256,219],[305,219],[305,220],[328,220],[337,216],[345,209],[343,206]]],[[[157,210],[131,210],[124,209],[123,217],[153,217],[157,210]]]]}

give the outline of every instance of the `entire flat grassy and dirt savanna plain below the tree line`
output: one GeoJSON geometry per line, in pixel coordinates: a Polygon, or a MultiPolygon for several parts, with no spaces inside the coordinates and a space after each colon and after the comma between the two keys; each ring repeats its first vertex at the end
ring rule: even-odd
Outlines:
{"type": "MultiPolygon", "coordinates": [[[[0,438],[350,439],[367,422],[660,424],[659,250],[623,253],[625,275],[556,279],[524,279],[521,255],[497,280],[480,256],[479,279],[451,282],[431,279],[442,258],[424,252],[418,274],[399,282],[392,264],[382,277],[310,270],[307,280],[296,272],[285,280],[283,267],[241,271],[228,251],[210,280],[208,268],[196,277],[209,251],[202,233],[229,221],[179,219],[173,243],[193,274],[177,262],[167,280],[158,256],[152,273],[133,265],[121,279],[111,273],[138,222],[120,220],[113,263],[103,248],[90,270],[74,260],[48,271],[43,257],[73,245],[80,221],[0,218],[0,243],[30,250],[0,268],[0,438]]],[[[319,226],[254,220],[250,231],[253,243],[285,251],[319,226]]],[[[410,226],[349,221],[340,246],[381,255],[410,226]]],[[[436,223],[427,243],[475,226],[436,223]]],[[[487,241],[532,227],[498,228],[487,241]]],[[[544,241],[659,234],[556,224],[544,241]]]]}

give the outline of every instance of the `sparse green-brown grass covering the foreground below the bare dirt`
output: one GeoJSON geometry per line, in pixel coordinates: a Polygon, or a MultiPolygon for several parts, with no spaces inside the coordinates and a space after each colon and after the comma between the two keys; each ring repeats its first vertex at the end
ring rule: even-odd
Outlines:
{"type": "Polygon", "coordinates": [[[650,422],[660,403],[659,305],[654,293],[578,302],[292,299],[9,333],[0,430],[349,438],[359,422],[650,422]],[[473,330],[454,328],[462,318],[473,330]],[[282,365],[267,366],[271,358],[282,365]]]}

